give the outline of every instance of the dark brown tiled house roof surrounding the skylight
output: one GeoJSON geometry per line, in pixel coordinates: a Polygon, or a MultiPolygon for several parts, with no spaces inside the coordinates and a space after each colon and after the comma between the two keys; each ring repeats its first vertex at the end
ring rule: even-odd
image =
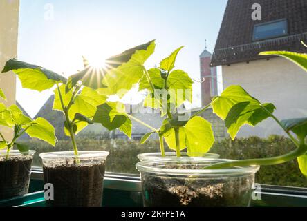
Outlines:
{"type": "Polygon", "coordinates": [[[252,20],[254,0],[228,0],[218,34],[211,66],[234,64],[255,59],[266,50],[306,52],[300,41],[307,41],[306,0],[258,0],[261,21],[252,20]],[[288,35],[263,41],[252,41],[254,25],[278,19],[287,19],[288,35]]]}

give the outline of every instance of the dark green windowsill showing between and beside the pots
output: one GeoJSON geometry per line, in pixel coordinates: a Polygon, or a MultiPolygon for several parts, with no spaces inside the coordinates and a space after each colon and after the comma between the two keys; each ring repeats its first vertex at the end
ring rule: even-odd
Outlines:
{"type": "MultiPolygon", "coordinates": [[[[139,191],[139,181],[105,179],[103,207],[142,207],[142,192],[139,191]]],[[[29,194],[23,197],[11,198],[0,201],[1,206],[17,207],[44,207],[43,180],[32,179],[30,182],[29,194]]],[[[254,207],[272,206],[307,206],[306,189],[295,189],[286,187],[265,186],[261,194],[261,200],[252,200],[254,207]]]]}

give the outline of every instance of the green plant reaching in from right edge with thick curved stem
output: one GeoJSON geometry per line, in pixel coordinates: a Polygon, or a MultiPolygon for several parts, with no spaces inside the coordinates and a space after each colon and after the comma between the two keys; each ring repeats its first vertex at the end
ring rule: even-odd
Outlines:
{"type": "MultiPolygon", "coordinates": [[[[261,52],[260,55],[277,55],[284,57],[307,72],[307,55],[286,52],[286,51],[272,51],[261,52]]],[[[250,165],[274,165],[295,160],[299,163],[301,173],[307,176],[307,118],[295,118],[279,120],[275,115],[274,104],[261,104],[259,100],[250,96],[241,86],[230,86],[226,88],[221,96],[214,97],[212,100],[212,107],[214,113],[225,120],[225,126],[228,129],[230,137],[234,139],[239,132],[241,126],[248,124],[256,126],[264,119],[272,118],[283,129],[283,131],[290,137],[290,140],[295,144],[296,148],[290,153],[277,157],[269,157],[263,159],[237,160],[233,162],[226,162],[221,164],[214,164],[208,166],[207,169],[222,169],[231,166],[250,166],[250,165]]]]}

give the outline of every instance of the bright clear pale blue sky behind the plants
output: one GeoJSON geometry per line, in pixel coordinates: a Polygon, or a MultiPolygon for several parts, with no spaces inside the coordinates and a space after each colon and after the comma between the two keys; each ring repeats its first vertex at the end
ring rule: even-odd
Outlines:
{"type": "MultiPolygon", "coordinates": [[[[200,80],[199,55],[213,51],[227,0],[21,0],[18,59],[64,73],[82,68],[82,55],[100,60],[156,39],[154,67],[184,45],[176,68],[200,80]]],[[[52,91],[17,84],[17,101],[34,117],[52,91]]],[[[200,84],[194,84],[200,106],[200,84]]]]}

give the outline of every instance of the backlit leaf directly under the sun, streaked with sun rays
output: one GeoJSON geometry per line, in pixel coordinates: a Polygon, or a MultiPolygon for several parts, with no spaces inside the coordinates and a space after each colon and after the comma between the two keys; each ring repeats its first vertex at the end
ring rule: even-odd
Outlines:
{"type": "Polygon", "coordinates": [[[95,68],[89,65],[89,61],[84,59],[84,70],[68,77],[66,84],[66,93],[71,90],[78,81],[82,81],[82,85],[92,89],[106,88],[106,85],[102,84],[102,79],[106,73],[104,68],[95,68]]]}

